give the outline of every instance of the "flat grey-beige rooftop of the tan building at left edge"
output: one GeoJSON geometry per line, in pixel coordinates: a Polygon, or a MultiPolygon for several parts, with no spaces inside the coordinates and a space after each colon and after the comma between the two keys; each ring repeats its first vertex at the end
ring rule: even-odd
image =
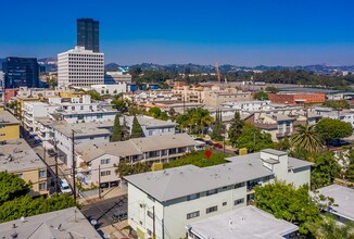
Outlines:
{"type": "Polygon", "coordinates": [[[47,168],[24,139],[9,140],[0,146],[0,171],[9,173],[47,168]]]}

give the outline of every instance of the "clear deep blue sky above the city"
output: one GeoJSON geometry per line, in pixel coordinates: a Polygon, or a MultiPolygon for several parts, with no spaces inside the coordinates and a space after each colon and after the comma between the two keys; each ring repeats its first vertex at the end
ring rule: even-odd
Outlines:
{"type": "Polygon", "coordinates": [[[353,0],[8,0],[0,58],[55,56],[100,21],[105,63],[354,64],[353,0]]]}

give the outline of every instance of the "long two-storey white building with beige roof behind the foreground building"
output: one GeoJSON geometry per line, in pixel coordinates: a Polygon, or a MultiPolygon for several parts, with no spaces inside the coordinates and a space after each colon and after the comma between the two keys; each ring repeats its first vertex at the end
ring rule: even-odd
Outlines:
{"type": "Polygon", "coordinates": [[[78,177],[85,185],[98,185],[101,176],[101,184],[110,185],[121,179],[114,166],[118,165],[121,160],[127,163],[165,163],[191,152],[194,144],[189,135],[177,134],[77,146],[75,154],[79,165],[78,177]]]}

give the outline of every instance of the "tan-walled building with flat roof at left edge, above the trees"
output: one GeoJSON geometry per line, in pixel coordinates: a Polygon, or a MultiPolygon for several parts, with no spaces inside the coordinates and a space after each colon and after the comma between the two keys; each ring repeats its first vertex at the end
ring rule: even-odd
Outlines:
{"type": "Polygon", "coordinates": [[[50,177],[47,165],[24,139],[9,140],[0,146],[0,172],[3,171],[31,183],[30,196],[48,194],[50,177]]]}

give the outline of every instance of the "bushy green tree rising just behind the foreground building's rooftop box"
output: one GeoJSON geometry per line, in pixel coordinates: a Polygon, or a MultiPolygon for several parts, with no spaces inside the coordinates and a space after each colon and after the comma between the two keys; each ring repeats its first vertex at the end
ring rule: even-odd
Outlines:
{"type": "Polygon", "coordinates": [[[245,122],[237,144],[239,148],[246,148],[249,152],[257,152],[273,147],[271,135],[262,133],[261,129],[245,122]]]}

